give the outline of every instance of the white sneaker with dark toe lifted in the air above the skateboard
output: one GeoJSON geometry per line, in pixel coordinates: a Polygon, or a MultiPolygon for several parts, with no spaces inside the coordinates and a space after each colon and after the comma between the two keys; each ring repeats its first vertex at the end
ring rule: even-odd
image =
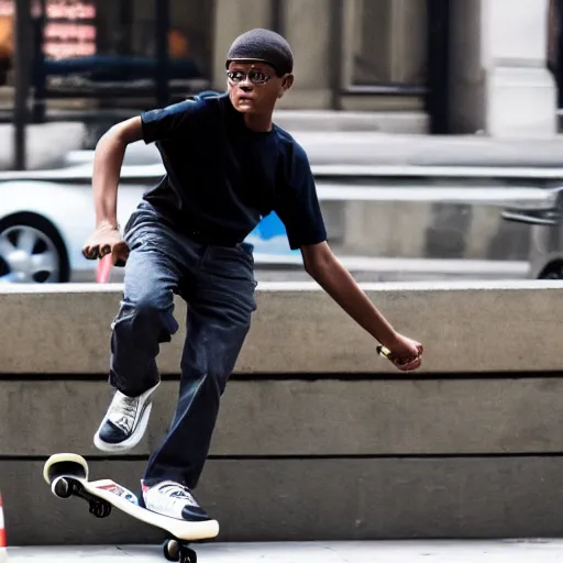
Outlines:
{"type": "Polygon", "coordinates": [[[108,412],[93,437],[93,444],[98,450],[123,452],[141,441],[153,408],[151,397],[158,385],[161,384],[157,383],[140,397],[128,397],[119,390],[115,391],[108,412]]]}

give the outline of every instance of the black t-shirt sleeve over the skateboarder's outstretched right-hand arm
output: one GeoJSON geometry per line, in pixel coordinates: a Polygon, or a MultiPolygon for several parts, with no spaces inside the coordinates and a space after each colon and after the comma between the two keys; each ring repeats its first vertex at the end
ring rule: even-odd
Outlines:
{"type": "Polygon", "coordinates": [[[294,143],[288,178],[279,190],[275,208],[286,228],[291,250],[327,240],[309,158],[303,148],[294,143]]]}

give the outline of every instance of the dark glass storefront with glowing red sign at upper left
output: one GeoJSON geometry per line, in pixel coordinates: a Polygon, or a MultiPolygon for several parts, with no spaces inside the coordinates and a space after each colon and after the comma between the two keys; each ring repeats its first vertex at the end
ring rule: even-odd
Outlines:
{"type": "MultiPolygon", "coordinates": [[[[0,0],[0,86],[13,86],[14,1],[0,0]]],[[[33,120],[47,107],[141,108],[208,87],[207,0],[32,0],[33,120]]]]}

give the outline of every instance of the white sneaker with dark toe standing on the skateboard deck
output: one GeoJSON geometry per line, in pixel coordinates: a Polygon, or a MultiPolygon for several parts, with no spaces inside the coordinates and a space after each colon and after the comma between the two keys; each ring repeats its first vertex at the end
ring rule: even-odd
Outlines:
{"type": "Polygon", "coordinates": [[[192,522],[210,520],[191,490],[174,481],[163,481],[152,487],[143,485],[143,499],[148,510],[163,516],[192,522]]]}

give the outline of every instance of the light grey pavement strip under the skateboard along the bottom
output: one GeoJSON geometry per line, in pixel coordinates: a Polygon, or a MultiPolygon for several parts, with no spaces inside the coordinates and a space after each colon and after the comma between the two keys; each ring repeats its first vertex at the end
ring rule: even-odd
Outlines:
{"type": "MultiPolygon", "coordinates": [[[[561,563],[563,540],[361,541],[307,543],[207,543],[196,545],[199,563],[561,563]]],[[[161,547],[10,548],[9,563],[166,561],[161,547]]]]}

